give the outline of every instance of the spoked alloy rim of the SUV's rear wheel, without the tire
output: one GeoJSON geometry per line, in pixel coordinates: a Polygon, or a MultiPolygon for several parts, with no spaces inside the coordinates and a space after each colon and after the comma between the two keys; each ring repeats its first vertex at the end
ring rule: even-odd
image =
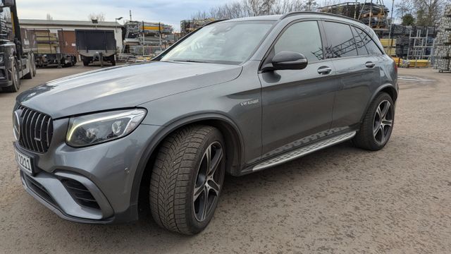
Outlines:
{"type": "Polygon", "coordinates": [[[393,126],[393,107],[388,100],[383,100],[376,109],[373,122],[373,135],[377,143],[383,144],[388,139],[393,126]]]}

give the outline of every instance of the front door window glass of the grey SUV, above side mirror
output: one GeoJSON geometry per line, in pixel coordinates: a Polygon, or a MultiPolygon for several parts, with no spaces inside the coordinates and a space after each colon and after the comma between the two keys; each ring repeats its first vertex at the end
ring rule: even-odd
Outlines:
{"type": "Polygon", "coordinates": [[[274,45],[274,54],[290,51],[304,54],[309,62],[323,59],[323,44],[316,21],[291,25],[274,45]]]}

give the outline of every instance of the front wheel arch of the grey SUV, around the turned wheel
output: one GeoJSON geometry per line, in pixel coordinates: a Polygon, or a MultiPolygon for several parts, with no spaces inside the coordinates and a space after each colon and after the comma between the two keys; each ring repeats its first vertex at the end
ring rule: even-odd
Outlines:
{"type": "MultiPolygon", "coordinates": [[[[190,124],[203,124],[218,128],[223,134],[223,138],[226,142],[226,172],[234,176],[240,174],[240,165],[244,158],[244,155],[242,155],[242,152],[244,152],[244,144],[240,129],[237,125],[223,114],[206,113],[187,116],[163,126],[160,131],[154,135],[154,138],[149,141],[140,162],[138,162],[137,171],[135,172],[130,193],[130,207],[135,206],[137,208],[137,204],[142,202],[144,202],[144,204],[149,204],[149,184],[150,176],[152,175],[152,165],[155,162],[161,143],[174,131],[190,124]]],[[[149,206],[147,205],[147,207],[149,206]]],[[[143,206],[144,209],[147,209],[147,207],[143,206]]],[[[137,212],[137,209],[133,210],[137,212]]]]}

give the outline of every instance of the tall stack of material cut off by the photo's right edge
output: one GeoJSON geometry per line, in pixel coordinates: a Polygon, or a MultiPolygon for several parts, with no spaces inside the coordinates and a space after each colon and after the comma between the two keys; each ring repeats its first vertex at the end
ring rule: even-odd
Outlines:
{"type": "Polygon", "coordinates": [[[445,14],[439,24],[439,32],[434,41],[434,68],[437,68],[439,72],[451,71],[451,5],[445,7],[445,14]]]}

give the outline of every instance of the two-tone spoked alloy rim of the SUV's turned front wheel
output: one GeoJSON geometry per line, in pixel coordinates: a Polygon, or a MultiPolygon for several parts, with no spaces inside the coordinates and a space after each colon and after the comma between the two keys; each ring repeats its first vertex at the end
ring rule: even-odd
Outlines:
{"type": "Polygon", "coordinates": [[[206,148],[197,171],[193,192],[193,210],[197,221],[203,222],[219,198],[223,183],[223,147],[214,142],[206,148]]]}

